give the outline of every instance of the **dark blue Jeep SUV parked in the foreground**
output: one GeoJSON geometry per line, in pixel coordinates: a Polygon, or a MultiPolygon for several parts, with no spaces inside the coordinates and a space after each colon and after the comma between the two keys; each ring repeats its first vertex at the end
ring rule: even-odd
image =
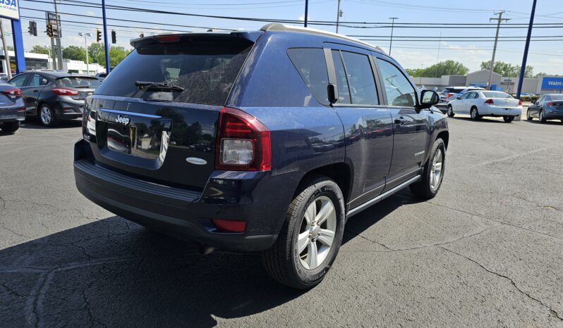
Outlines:
{"type": "Polygon", "coordinates": [[[164,34],[86,101],[78,190],[204,251],[261,251],[279,282],[325,277],[349,217],[444,177],[447,118],[399,63],[302,27],[164,34]],[[389,86],[389,87],[387,87],[389,86]]]}

